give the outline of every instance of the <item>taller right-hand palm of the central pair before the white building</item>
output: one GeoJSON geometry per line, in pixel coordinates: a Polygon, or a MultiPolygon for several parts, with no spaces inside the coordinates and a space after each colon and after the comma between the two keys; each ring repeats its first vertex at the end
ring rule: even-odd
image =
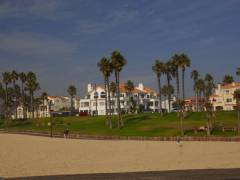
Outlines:
{"type": "Polygon", "coordinates": [[[113,51],[111,55],[111,62],[115,74],[115,82],[117,85],[118,128],[120,128],[124,126],[120,107],[120,72],[127,61],[119,51],[113,51]]]}

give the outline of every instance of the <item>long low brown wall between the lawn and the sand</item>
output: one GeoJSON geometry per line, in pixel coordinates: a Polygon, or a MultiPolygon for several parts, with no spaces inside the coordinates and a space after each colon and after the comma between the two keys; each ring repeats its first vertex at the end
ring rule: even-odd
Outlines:
{"type": "MultiPolygon", "coordinates": [[[[2,133],[9,134],[25,134],[25,135],[34,135],[34,136],[45,136],[49,137],[50,133],[45,131],[5,131],[0,130],[2,133]]],[[[63,133],[54,132],[53,137],[63,138],[63,133]]],[[[70,133],[69,138],[71,139],[92,139],[92,140],[138,140],[138,141],[177,141],[177,139],[181,139],[181,141],[226,141],[226,142],[240,142],[240,136],[233,137],[220,137],[220,136],[201,136],[201,137],[192,137],[192,136],[158,136],[158,137],[146,137],[146,136],[96,136],[96,135],[82,135],[78,133],[70,133]]]]}

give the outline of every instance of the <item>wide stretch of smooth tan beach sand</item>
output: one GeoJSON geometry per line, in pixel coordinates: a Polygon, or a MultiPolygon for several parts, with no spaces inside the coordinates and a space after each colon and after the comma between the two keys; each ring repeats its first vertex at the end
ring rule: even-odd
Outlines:
{"type": "Polygon", "coordinates": [[[239,142],[111,141],[0,134],[0,177],[240,167],[239,142]]]}

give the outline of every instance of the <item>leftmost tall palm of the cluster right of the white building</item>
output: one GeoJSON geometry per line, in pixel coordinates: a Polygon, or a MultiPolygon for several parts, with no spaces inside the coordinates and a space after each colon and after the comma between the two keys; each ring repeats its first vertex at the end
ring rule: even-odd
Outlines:
{"type": "Polygon", "coordinates": [[[153,72],[157,76],[158,81],[158,94],[159,94],[159,113],[162,115],[162,93],[161,93],[161,76],[164,72],[164,63],[159,60],[156,60],[154,65],[152,66],[153,72]]]}

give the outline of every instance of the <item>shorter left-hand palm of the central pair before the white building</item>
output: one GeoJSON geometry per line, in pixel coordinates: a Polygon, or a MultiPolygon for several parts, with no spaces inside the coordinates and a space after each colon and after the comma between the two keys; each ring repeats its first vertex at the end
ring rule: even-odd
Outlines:
{"type": "Polygon", "coordinates": [[[107,115],[106,124],[110,128],[112,128],[112,117],[111,117],[111,105],[110,105],[110,93],[109,93],[109,77],[112,73],[112,64],[110,60],[106,57],[103,57],[98,62],[98,67],[100,72],[103,74],[104,77],[104,90],[105,90],[105,112],[107,115]],[[109,106],[109,111],[108,111],[109,106]]]}

